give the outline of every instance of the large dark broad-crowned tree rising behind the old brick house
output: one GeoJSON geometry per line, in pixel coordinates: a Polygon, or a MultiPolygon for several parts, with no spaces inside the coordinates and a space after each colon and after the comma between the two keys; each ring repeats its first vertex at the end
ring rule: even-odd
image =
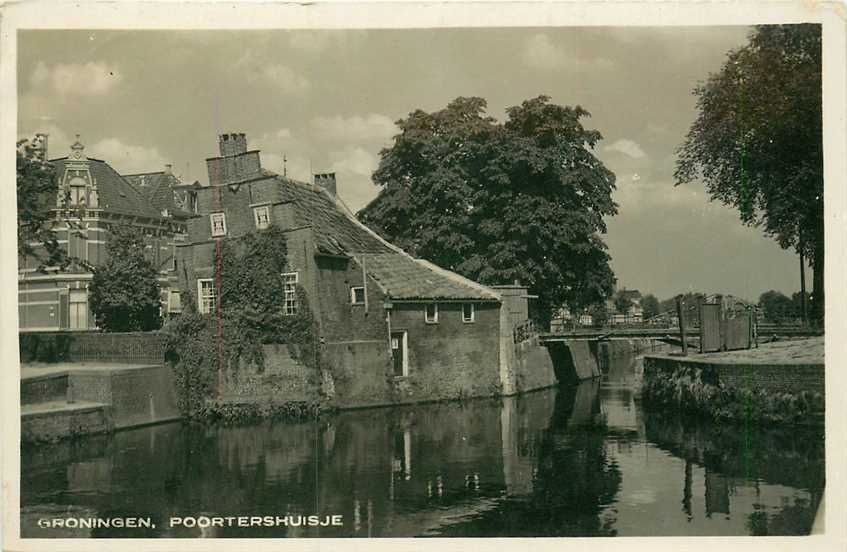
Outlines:
{"type": "Polygon", "coordinates": [[[381,153],[382,187],[359,217],[407,251],[485,284],[514,281],[539,296],[538,315],[608,296],[604,216],[615,175],[593,154],[601,139],[583,108],[546,96],[486,115],[482,98],[411,113],[381,153]]]}

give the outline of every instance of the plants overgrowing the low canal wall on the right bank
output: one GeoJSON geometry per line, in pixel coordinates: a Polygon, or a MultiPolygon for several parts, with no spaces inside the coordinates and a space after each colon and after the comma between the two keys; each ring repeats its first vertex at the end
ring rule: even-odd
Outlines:
{"type": "Polygon", "coordinates": [[[812,391],[778,392],[703,381],[699,369],[678,367],[645,377],[645,404],[724,422],[756,424],[818,421],[824,398],[812,391]]]}

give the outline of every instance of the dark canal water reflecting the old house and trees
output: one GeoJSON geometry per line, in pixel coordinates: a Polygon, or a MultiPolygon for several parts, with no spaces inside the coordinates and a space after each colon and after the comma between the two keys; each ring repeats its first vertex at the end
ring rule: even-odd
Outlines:
{"type": "MultiPolygon", "coordinates": [[[[823,431],[645,411],[639,361],[504,400],[248,427],[167,424],[27,449],[27,537],[776,535],[810,531],[823,431]],[[341,527],[169,527],[175,516],[343,516],[341,527]],[[40,529],[141,516],[145,529],[40,529]]],[[[295,518],[296,522],[296,518],[295,518]]]]}

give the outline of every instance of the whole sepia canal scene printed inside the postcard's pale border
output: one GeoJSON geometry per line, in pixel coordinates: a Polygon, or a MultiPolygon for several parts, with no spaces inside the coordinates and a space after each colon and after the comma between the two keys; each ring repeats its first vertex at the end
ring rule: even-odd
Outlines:
{"type": "Polygon", "coordinates": [[[820,22],[78,23],[7,69],[21,542],[833,529],[820,22]]]}

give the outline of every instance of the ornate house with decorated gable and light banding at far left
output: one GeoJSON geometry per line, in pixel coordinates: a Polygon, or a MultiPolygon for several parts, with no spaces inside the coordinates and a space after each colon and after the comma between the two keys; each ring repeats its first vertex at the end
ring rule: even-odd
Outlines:
{"type": "MultiPolygon", "coordinates": [[[[46,135],[39,135],[37,144],[39,155],[47,159],[46,135]]],[[[114,225],[130,225],[143,233],[150,258],[159,268],[163,311],[180,309],[174,293],[174,253],[192,214],[177,199],[191,187],[170,174],[169,167],[147,176],[121,176],[107,162],[87,157],[84,150],[77,137],[68,156],[49,161],[58,180],[52,230],[74,261],[64,270],[38,270],[36,259],[18,259],[21,331],[94,329],[88,284],[92,268],[106,262],[106,242],[114,225]]]]}

